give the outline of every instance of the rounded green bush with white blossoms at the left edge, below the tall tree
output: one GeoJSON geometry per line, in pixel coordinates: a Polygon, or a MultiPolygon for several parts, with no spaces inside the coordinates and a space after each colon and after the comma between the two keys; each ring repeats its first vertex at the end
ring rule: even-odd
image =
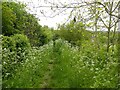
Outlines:
{"type": "Polygon", "coordinates": [[[26,59],[30,43],[26,36],[15,34],[11,37],[2,36],[2,46],[2,73],[3,79],[7,79],[26,59]]]}

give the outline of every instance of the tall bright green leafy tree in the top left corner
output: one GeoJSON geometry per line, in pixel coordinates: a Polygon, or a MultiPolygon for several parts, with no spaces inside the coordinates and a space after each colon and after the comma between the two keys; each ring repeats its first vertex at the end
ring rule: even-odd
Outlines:
{"type": "Polygon", "coordinates": [[[26,14],[25,6],[21,3],[3,2],[2,3],[2,23],[5,36],[11,36],[17,33],[23,33],[25,26],[26,14]]]}

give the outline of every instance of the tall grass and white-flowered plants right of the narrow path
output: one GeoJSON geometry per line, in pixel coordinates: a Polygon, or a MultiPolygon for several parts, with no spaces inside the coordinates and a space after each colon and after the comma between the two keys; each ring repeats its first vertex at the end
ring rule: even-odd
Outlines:
{"type": "Polygon", "coordinates": [[[89,47],[85,52],[79,51],[61,40],[56,45],[59,54],[55,56],[51,87],[116,87],[115,54],[111,56],[107,52],[88,50],[89,47]]]}

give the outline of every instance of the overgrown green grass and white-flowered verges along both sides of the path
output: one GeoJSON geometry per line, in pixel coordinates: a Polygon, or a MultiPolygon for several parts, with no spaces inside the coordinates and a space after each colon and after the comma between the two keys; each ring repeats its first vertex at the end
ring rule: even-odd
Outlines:
{"type": "MultiPolygon", "coordinates": [[[[104,48],[104,47],[103,47],[104,48]]],[[[117,86],[116,52],[85,44],[73,47],[61,39],[32,48],[27,59],[5,81],[14,88],[115,88],[117,86]]]]}

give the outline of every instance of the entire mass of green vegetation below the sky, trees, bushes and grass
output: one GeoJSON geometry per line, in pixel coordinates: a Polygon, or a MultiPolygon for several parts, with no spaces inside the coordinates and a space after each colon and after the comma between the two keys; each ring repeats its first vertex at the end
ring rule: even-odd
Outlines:
{"type": "Polygon", "coordinates": [[[24,4],[2,7],[2,88],[118,87],[119,32],[90,31],[72,20],[54,30],[24,4]]]}

